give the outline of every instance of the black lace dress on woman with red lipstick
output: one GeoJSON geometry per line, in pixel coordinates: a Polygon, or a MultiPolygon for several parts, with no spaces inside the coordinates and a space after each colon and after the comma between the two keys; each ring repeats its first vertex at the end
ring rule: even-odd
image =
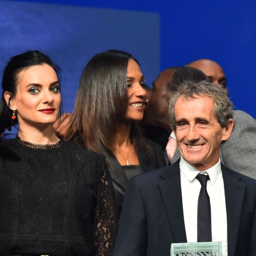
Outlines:
{"type": "Polygon", "coordinates": [[[0,143],[0,255],[108,256],[116,235],[103,156],[72,143],[0,143]]]}

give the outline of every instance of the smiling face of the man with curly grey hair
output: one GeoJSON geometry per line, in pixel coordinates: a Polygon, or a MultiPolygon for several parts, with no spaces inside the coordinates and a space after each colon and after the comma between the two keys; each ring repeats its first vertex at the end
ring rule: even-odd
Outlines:
{"type": "Polygon", "coordinates": [[[219,159],[222,140],[229,137],[214,115],[211,98],[178,98],[174,105],[177,144],[186,162],[200,171],[214,166],[219,159]]]}

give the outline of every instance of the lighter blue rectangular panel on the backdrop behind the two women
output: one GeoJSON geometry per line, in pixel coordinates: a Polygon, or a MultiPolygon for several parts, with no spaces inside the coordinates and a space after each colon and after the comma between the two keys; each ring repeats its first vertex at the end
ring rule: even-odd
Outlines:
{"type": "Polygon", "coordinates": [[[132,53],[150,85],[160,72],[158,13],[0,1],[0,31],[1,77],[11,56],[41,50],[62,69],[64,112],[72,112],[83,68],[96,53],[132,53]]]}

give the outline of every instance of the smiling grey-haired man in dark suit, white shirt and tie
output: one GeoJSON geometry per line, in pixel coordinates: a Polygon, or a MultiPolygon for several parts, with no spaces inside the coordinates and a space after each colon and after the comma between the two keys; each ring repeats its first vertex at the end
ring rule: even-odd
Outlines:
{"type": "Polygon", "coordinates": [[[169,256],[172,243],[199,241],[221,241],[223,256],[256,255],[256,181],[219,160],[232,107],[207,81],[184,83],[173,94],[170,122],[181,160],[130,179],[114,256],[169,256]]]}

